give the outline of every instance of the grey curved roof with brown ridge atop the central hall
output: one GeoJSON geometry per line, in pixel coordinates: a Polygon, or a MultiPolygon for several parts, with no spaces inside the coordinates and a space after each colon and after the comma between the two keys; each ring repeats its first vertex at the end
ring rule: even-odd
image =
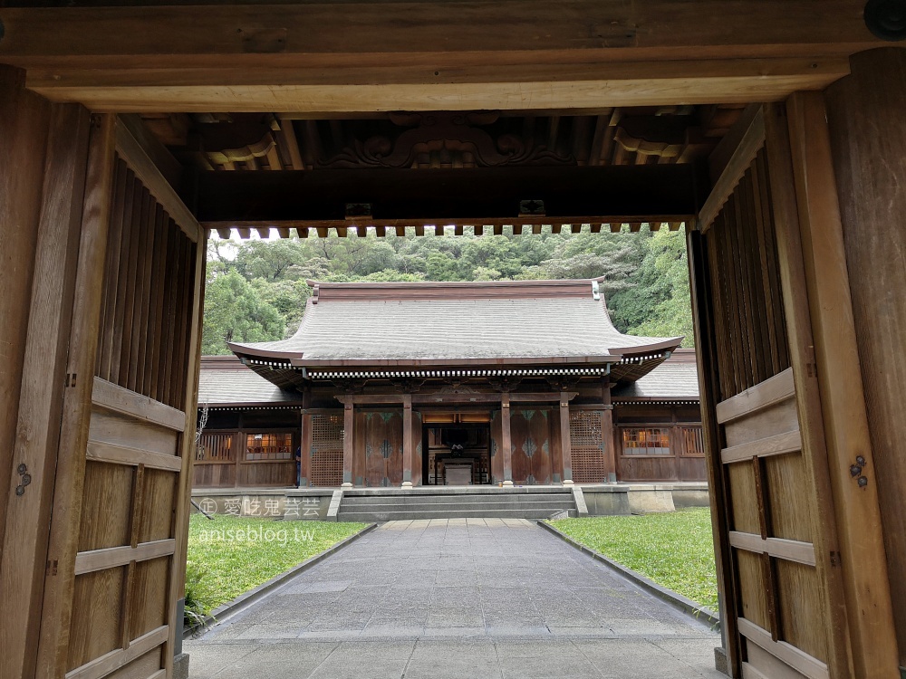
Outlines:
{"type": "Polygon", "coordinates": [[[608,359],[673,349],[682,338],[623,335],[592,281],[314,283],[294,337],[231,344],[296,365],[608,359]],[[598,297],[598,299],[594,299],[598,297]]]}

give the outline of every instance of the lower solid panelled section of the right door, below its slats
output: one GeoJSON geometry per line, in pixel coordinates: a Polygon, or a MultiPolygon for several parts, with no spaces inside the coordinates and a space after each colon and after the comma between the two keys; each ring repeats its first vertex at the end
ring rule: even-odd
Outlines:
{"type": "MultiPolygon", "coordinates": [[[[785,648],[781,643],[795,647],[800,652],[795,657],[826,675],[826,631],[814,624],[825,612],[811,541],[814,498],[802,492],[809,483],[793,368],[718,404],[717,414],[728,443],[721,464],[728,467],[730,544],[742,598],[740,622],[748,623],[740,626],[746,649],[770,638],[761,650],[776,655],[785,648]]],[[[747,662],[769,672],[773,665],[757,665],[761,657],[749,655],[747,662]]]]}

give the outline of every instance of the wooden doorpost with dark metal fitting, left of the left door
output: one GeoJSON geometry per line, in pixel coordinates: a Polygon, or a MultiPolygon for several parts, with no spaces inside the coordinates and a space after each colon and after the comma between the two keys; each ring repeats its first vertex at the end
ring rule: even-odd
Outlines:
{"type": "MultiPolygon", "coordinates": [[[[17,611],[18,620],[18,625],[3,636],[5,647],[12,651],[5,662],[14,674],[23,676],[34,673],[41,624],[43,571],[82,232],[89,120],[88,111],[81,106],[53,107],[46,157],[43,148],[38,149],[38,155],[46,158],[40,218],[36,228],[26,227],[34,228],[37,243],[31,300],[24,305],[28,322],[21,347],[24,361],[12,449],[14,470],[4,502],[0,552],[0,590],[5,606],[17,611]],[[30,483],[23,483],[26,478],[30,483]],[[24,656],[19,655],[22,651],[24,656]]],[[[10,409],[15,412],[14,406],[10,409]]]]}

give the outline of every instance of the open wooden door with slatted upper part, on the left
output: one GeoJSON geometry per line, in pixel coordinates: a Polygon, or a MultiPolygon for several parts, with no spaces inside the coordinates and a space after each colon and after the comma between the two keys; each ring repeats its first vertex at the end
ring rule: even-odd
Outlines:
{"type": "Polygon", "coordinates": [[[182,634],[205,237],[126,125],[102,125],[85,212],[106,216],[82,234],[37,675],[164,677],[182,634]]]}

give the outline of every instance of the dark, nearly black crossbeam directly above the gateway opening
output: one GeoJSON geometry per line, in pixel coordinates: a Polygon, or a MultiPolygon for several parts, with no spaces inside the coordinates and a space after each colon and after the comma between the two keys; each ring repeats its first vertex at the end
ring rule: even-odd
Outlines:
{"type": "Polygon", "coordinates": [[[197,215],[207,228],[254,223],[346,228],[346,205],[367,202],[369,225],[434,219],[442,234],[445,224],[482,220],[563,224],[600,222],[598,215],[608,215],[632,222],[682,221],[697,211],[694,196],[690,165],[206,172],[198,177],[197,215]],[[520,217],[519,201],[526,196],[545,201],[545,217],[520,217]]]}

